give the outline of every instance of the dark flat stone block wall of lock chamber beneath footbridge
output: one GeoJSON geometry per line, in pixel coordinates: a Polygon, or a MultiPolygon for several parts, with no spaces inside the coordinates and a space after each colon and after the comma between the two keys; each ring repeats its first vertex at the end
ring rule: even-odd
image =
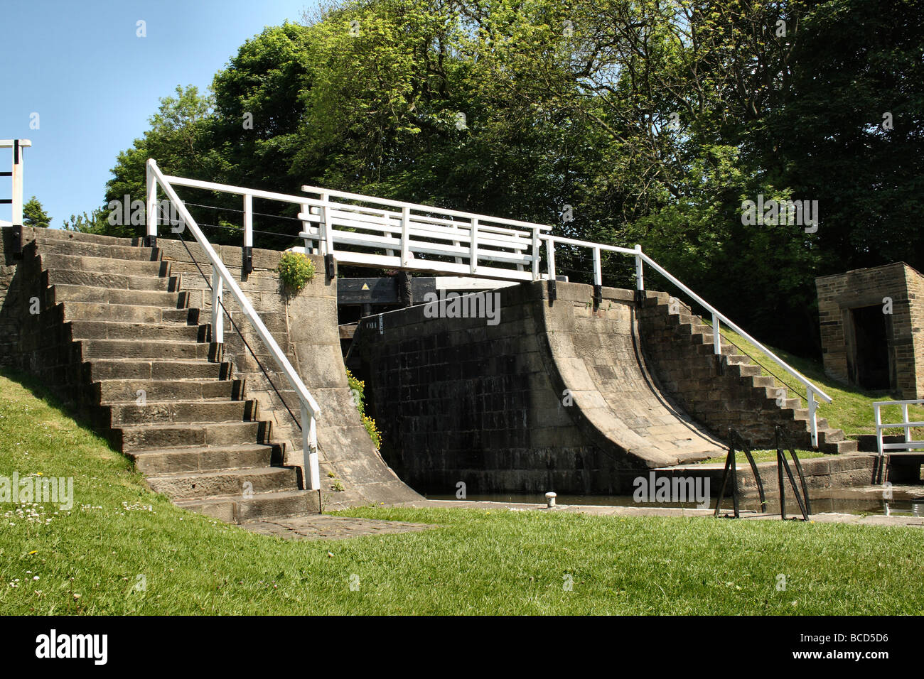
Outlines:
{"type": "Polygon", "coordinates": [[[415,490],[614,493],[638,476],[577,428],[550,381],[535,318],[543,288],[502,290],[493,326],[427,318],[423,306],[359,322],[346,362],[366,381],[385,459],[415,490]]]}

